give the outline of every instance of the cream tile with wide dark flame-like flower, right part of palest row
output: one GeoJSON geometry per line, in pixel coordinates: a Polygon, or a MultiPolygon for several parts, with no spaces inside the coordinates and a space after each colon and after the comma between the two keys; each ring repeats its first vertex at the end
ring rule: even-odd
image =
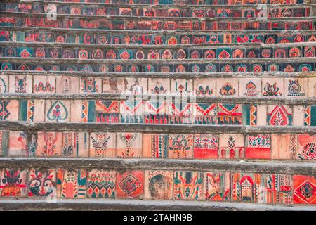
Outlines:
{"type": "Polygon", "coordinates": [[[262,95],[265,97],[284,96],[283,78],[263,78],[262,79],[262,95]]]}

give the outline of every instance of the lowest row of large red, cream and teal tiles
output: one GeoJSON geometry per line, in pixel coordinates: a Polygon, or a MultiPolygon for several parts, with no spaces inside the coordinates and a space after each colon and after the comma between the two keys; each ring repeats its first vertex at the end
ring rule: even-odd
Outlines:
{"type": "Polygon", "coordinates": [[[1,197],[315,204],[314,176],[166,170],[2,169],[1,197]]]}

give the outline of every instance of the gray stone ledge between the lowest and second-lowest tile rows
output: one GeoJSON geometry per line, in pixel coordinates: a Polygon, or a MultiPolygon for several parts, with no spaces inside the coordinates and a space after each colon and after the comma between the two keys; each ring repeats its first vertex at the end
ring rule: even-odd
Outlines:
{"type": "Polygon", "coordinates": [[[113,169],[242,172],[316,175],[316,163],[303,160],[192,160],[159,158],[0,158],[0,168],[113,169]]]}

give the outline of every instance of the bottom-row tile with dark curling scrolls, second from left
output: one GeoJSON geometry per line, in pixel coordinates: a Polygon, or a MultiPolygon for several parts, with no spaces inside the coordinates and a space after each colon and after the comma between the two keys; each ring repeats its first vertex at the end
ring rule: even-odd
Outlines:
{"type": "Polygon", "coordinates": [[[36,197],[56,196],[56,172],[54,169],[31,169],[27,183],[28,195],[36,197]]]}

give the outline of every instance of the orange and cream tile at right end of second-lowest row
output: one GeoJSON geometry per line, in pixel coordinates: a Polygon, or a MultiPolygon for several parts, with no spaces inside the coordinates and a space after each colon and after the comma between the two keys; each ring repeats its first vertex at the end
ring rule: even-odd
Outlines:
{"type": "Polygon", "coordinates": [[[298,158],[316,160],[316,135],[298,134],[298,158]]]}

